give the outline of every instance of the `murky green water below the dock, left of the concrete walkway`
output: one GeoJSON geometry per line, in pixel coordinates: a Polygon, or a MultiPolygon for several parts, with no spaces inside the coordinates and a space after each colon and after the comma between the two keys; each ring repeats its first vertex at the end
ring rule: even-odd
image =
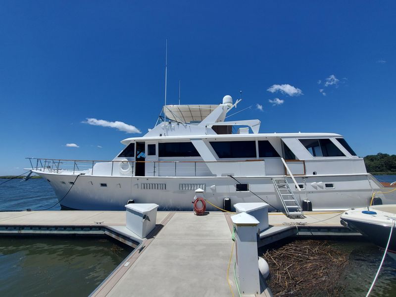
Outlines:
{"type": "Polygon", "coordinates": [[[108,239],[0,237],[0,296],[88,296],[130,251],[108,239]]]}

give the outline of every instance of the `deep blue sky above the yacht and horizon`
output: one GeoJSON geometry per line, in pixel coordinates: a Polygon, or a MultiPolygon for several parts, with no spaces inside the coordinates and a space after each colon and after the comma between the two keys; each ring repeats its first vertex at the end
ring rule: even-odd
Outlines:
{"type": "Polygon", "coordinates": [[[260,119],[260,132],[335,132],[360,156],[396,153],[395,11],[395,1],[2,0],[0,175],[22,173],[27,156],[111,159],[120,140],[143,136],[163,104],[166,39],[168,103],[179,79],[184,104],[242,90],[237,111],[251,108],[233,118],[260,119]]]}

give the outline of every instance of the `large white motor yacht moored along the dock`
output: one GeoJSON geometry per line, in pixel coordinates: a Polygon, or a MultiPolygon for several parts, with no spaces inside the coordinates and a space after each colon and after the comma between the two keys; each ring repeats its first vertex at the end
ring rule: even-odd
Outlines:
{"type": "MultiPolygon", "coordinates": [[[[370,203],[383,186],[367,173],[340,134],[258,133],[260,120],[227,120],[236,107],[165,105],[143,137],[127,138],[112,160],[32,159],[60,204],[82,210],[123,210],[128,200],[188,210],[201,189],[217,207],[225,199],[267,202],[298,216],[303,210],[344,210],[370,203]]],[[[375,201],[395,203],[395,194],[375,201]]],[[[208,210],[215,210],[208,206],[208,210]]]]}

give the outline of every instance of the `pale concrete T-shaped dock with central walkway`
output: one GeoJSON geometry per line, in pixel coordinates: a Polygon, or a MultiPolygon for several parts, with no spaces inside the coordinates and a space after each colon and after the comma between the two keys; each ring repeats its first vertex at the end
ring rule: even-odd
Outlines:
{"type": "MultiPolygon", "coordinates": [[[[340,224],[341,214],[310,212],[305,218],[290,219],[270,213],[270,228],[260,233],[261,246],[301,232],[343,234],[347,229],[340,224]]],[[[137,247],[91,296],[231,296],[230,286],[238,296],[232,268],[227,281],[233,246],[230,215],[160,211],[155,229],[142,239],[125,227],[124,211],[0,212],[0,236],[106,234],[137,247]]]]}

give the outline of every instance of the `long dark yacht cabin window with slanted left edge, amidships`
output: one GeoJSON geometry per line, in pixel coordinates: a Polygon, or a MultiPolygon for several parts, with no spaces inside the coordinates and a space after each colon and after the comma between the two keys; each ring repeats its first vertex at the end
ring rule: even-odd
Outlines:
{"type": "Polygon", "coordinates": [[[255,141],[217,141],[210,145],[219,158],[255,158],[255,141]]]}

